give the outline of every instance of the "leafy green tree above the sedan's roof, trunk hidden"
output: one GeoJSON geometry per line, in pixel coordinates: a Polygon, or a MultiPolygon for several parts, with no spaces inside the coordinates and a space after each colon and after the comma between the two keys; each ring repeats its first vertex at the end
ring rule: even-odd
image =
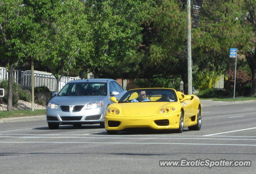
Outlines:
{"type": "Polygon", "coordinates": [[[79,67],[96,77],[127,77],[138,68],[136,51],[141,42],[140,22],[146,0],[86,0],[92,26],[93,50],[79,67]],[[116,68],[118,67],[118,68],[116,68]]]}

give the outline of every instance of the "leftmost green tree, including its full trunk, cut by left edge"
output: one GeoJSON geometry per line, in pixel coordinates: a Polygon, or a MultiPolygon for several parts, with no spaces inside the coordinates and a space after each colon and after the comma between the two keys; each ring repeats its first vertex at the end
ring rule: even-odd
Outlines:
{"type": "Polygon", "coordinates": [[[8,105],[12,111],[13,72],[18,62],[27,59],[26,38],[33,26],[22,0],[0,0],[0,55],[8,69],[8,105]]]}

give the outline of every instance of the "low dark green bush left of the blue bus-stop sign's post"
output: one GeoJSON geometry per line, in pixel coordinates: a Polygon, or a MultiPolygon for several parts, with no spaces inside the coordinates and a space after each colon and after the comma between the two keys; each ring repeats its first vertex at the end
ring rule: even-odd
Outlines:
{"type": "Polygon", "coordinates": [[[204,89],[197,93],[197,96],[200,98],[224,98],[230,97],[231,93],[222,89],[204,89]]]}

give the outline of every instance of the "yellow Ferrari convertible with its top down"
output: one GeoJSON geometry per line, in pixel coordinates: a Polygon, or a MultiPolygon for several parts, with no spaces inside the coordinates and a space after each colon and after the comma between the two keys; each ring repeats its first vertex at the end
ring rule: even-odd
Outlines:
{"type": "Polygon", "coordinates": [[[184,95],[171,88],[141,88],[127,91],[110,104],[105,114],[108,134],[130,128],[200,130],[202,107],[196,95],[184,95]]]}

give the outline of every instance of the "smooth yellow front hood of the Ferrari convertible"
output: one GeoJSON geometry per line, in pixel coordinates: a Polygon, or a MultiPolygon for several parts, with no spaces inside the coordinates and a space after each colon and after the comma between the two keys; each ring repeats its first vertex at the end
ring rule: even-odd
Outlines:
{"type": "Polygon", "coordinates": [[[166,106],[177,106],[176,102],[134,102],[134,103],[122,103],[122,111],[124,115],[145,117],[156,115],[157,112],[166,106]]]}

